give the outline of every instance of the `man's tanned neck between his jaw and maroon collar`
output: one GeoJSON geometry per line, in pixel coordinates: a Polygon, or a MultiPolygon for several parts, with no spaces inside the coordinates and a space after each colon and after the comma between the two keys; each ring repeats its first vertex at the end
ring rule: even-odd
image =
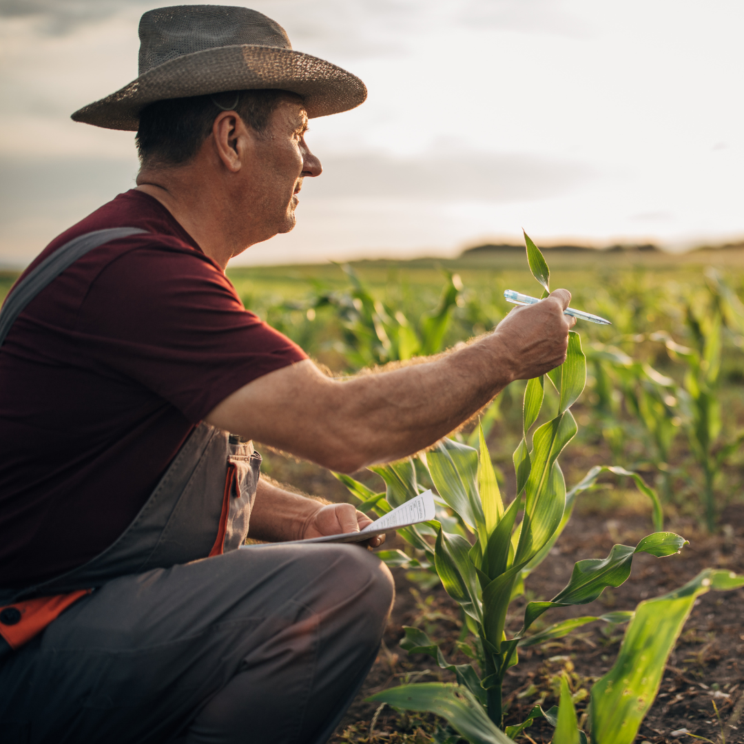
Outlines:
{"type": "Polygon", "coordinates": [[[136,190],[149,194],[163,205],[176,222],[196,240],[205,255],[222,271],[234,255],[246,248],[232,235],[227,195],[218,193],[202,180],[194,183],[180,168],[143,170],[137,176],[136,190]]]}

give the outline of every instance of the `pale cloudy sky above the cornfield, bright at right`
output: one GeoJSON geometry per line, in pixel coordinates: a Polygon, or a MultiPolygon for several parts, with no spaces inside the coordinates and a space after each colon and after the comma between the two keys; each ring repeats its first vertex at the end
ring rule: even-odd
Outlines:
{"type": "MultiPolygon", "coordinates": [[[[246,4],[226,1],[224,4],[246,4]]],[[[132,187],[132,132],[69,118],[137,76],[142,0],[0,0],[0,266],[132,187]]],[[[313,119],[294,231],[233,263],[482,243],[744,239],[741,0],[254,0],[365,81],[313,119]]]]}

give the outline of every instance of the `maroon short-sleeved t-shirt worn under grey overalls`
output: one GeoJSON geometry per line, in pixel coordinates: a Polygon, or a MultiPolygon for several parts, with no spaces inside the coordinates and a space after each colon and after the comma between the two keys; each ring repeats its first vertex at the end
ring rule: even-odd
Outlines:
{"type": "Polygon", "coordinates": [[[141,191],[78,222],[29,268],[113,227],[150,234],[78,259],[0,347],[0,587],[100,553],[215,405],[307,358],[244,309],[217,263],[141,191]]]}

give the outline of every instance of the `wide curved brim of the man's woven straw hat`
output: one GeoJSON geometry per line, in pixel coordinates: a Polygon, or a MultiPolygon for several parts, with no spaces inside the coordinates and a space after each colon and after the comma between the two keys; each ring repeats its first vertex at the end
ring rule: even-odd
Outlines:
{"type": "Polygon", "coordinates": [[[121,90],[83,106],[72,119],[136,132],[141,110],[156,100],[269,88],[300,95],[309,118],[348,111],[367,97],[362,80],[330,62],[292,49],[243,44],[168,60],[121,90]]]}

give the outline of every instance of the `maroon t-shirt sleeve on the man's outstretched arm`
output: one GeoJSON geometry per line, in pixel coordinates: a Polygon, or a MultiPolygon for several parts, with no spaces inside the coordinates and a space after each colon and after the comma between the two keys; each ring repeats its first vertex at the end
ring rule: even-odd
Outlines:
{"type": "Polygon", "coordinates": [[[102,371],[144,385],[193,423],[248,382],[307,359],[245,310],[211,260],[168,238],[106,266],[76,331],[102,371]]]}

